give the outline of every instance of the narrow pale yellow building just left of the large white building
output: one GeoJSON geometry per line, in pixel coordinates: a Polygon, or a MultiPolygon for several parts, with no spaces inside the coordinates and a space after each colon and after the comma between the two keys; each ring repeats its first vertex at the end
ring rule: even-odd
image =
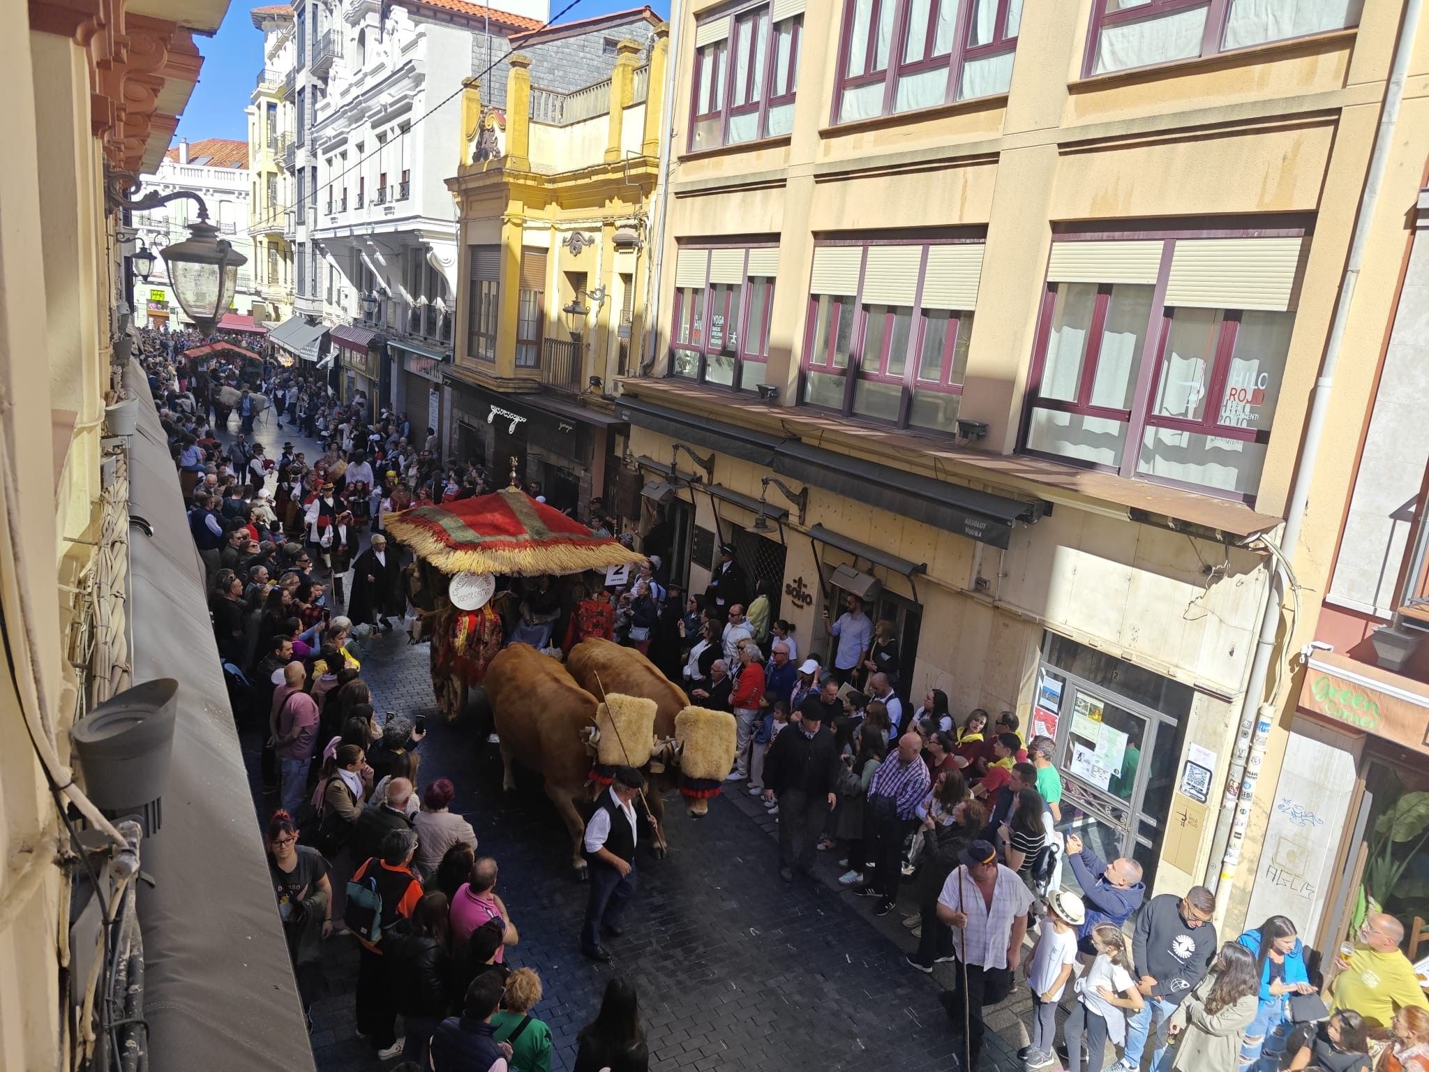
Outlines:
{"type": "Polygon", "coordinates": [[[293,154],[297,130],[297,79],[302,41],[293,4],[267,4],[252,11],[263,33],[263,67],[253,86],[249,113],[250,272],[262,296],[254,319],[270,324],[294,312],[296,182],[293,154]]]}

